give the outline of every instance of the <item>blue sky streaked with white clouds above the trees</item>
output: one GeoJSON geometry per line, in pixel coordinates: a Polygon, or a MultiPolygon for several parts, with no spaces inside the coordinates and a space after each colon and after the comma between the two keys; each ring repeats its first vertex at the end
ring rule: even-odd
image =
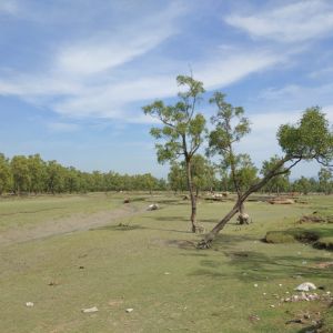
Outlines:
{"type": "Polygon", "coordinates": [[[0,152],[167,176],[142,107],[173,103],[191,71],[208,119],[214,91],[245,109],[238,151],[260,168],[306,108],[333,123],[333,1],[0,0],[0,152]]]}

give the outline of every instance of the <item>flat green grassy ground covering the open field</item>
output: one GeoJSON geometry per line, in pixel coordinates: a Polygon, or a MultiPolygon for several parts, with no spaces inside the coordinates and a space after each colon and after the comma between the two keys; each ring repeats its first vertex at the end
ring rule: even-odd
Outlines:
{"type": "MultiPolygon", "coordinates": [[[[2,201],[0,225],[9,230],[112,210],[124,196],[2,201]]],[[[205,251],[194,248],[200,236],[189,232],[189,202],[172,195],[130,203],[159,202],[158,211],[2,246],[0,332],[305,332],[312,320],[332,323],[327,302],[280,299],[306,281],[324,286],[321,294],[333,293],[333,266],[317,266],[332,262],[333,253],[302,243],[261,241],[270,230],[332,230],[333,224],[296,223],[302,214],[330,212],[333,206],[332,196],[306,200],[307,204],[294,205],[248,203],[253,223],[240,228],[231,221],[213,249],[205,251]],[[81,312],[91,306],[99,312],[81,312]],[[133,312],[127,313],[128,307],[133,312]],[[285,324],[305,313],[310,319],[304,324],[285,324]]],[[[229,202],[201,201],[199,220],[209,230],[230,208],[229,202]]]]}

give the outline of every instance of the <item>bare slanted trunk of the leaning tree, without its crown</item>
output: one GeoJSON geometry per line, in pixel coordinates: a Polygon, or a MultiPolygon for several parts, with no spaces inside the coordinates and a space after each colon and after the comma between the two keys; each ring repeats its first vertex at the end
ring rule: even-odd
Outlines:
{"type": "Polygon", "coordinates": [[[198,249],[209,249],[211,246],[211,243],[213,242],[213,240],[216,238],[218,233],[225,226],[225,224],[240,211],[241,205],[243,204],[243,202],[248,199],[248,196],[253,193],[259,191],[261,188],[263,188],[272,178],[286,173],[292,167],[294,167],[296,163],[299,163],[301,161],[301,159],[299,159],[295,163],[293,163],[289,169],[279,172],[279,169],[281,169],[285,162],[292,160],[292,158],[290,157],[284,157],[283,159],[281,159],[275,167],[261,180],[259,181],[256,184],[253,184],[252,186],[250,186],[250,189],[243,193],[241,196],[239,196],[235,205],[232,208],[232,210],[211,230],[210,233],[208,233],[205,235],[205,238],[203,240],[201,240],[196,248],[198,249]]]}

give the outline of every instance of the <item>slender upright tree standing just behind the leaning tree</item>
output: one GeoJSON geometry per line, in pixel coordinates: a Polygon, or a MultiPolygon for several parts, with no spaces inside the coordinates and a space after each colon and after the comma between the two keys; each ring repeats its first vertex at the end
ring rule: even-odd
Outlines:
{"type": "Polygon", "coordinates": [[[224,99],[225,94],[219,91],[210,99],[210,102],[218,107],[218,112],[211,118],[215,128],[209,134],[208,153],[219,154],[222,158],[222,168],[226,172],[230,170],[230,178],[240,203],[239,221],[243,224],[248,222],[249,215],[244,213],[244,202],[240,199],[243,189],[255,180],[256,169],[248,154],[235,153],[234,144],[250,132],[250,122],[244,117],[243,108],[233,107],[224,99]]]}

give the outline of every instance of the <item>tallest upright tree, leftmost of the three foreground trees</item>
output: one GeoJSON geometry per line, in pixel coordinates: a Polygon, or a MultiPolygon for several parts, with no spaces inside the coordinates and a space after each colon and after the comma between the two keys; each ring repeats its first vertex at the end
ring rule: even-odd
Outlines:
{"type": "Polygon", "coordinates": [[[158,100],[143,107],[143,111],[162,123],[161,128],[152,128],[150,131],[154,139],[163,142],[155,144],[159,163],[183,158],[191,196],[192,232],[195,232],[196,198],[191,176],[191,163],[205,134],[205,119],[196,112],[204,89],[202,82],[195,81],[192,77],[179,75],[176,82],[183,90],[178,93],[179,100],[175,104],[165,105],[163,101],[158,100]]]}

